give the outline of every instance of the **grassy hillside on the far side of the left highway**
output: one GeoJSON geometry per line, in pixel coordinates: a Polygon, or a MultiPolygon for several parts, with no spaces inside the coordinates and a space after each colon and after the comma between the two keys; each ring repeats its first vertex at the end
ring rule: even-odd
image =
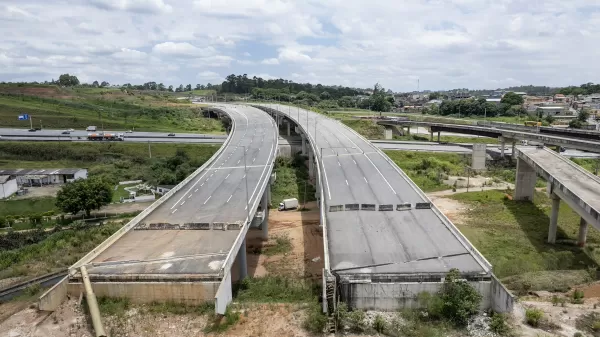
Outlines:
{"type": "Polygon", "coordinates": [[[223,125],[202,117],[200,106],[172,93],[123,92],[114,88],[16,87],[0,85],[0,125],[29,128],[17,116],[29,114],[34,127],[163,132],[224,133],[223,125]]]}

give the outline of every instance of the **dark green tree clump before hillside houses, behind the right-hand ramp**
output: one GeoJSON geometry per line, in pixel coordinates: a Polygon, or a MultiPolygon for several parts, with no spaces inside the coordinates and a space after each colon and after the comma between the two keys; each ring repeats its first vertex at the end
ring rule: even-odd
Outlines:
{"type": "Polygon", "coordinates": [[[431,108],[426,108],[423,113],[432,115],[456,115],[461,117],[468,116],[517,116],[525,115],[527,111],[520,105],[512,105],[510,103],[490,103],[486,102],[485,98],[479,99],[461,99],[454,101],[443,101],[439,106],[433,105],[431,108]]]}

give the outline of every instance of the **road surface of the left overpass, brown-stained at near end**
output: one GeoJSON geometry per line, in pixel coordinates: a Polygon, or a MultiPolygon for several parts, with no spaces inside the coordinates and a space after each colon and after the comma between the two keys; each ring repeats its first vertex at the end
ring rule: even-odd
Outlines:
{"type": "MultiPolygon", "coordinates": [[[[227,106],[223,110],[235,122],[231,141],[210,166],[141,222],[241,224],[246,221],[252,205],[262,197],[260,187],[270,178],[277,129],[274,120],[259,109],[227,106]]],[[[131,230],[93,261],[105,265],[88,270],[90,274],[217,273],[239,233],[239,230],[131,230]]]]}

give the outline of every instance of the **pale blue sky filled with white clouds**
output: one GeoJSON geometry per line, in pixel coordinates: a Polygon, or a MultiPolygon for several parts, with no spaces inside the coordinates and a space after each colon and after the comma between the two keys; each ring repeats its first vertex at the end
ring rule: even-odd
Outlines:
{"type": "Polygon", "coordinates": [[[0,0],[13,82],[566,86],[597,81],[598,41],[598,0],[0,0]]]}

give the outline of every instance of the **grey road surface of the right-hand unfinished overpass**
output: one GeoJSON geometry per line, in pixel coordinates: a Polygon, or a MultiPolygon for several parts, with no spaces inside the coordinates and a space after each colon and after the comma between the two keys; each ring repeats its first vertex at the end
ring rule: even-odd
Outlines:
{"type": "MultiPolygon", "coordinates": [[[[287,106],[265,105],[288,114],[287,106]]],[[[316,142],[324,168],[330,267],[338,274],[485,272],[455,234],[425,202],[408,177],[388,162],[369,141],[341,123],[314,112],[292,108],[316,142]],[[344,204],[392,204],[394,211],[332,212],[344,204]],[[396,205],[411,203],[408,211],[396,205]]]]}

